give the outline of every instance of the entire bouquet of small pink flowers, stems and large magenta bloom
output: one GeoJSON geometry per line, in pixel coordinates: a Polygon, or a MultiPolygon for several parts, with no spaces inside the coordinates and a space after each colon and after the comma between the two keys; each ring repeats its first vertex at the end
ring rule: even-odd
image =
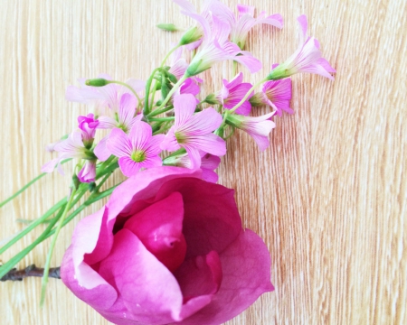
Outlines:
{"type": "Polygon", "coordinates": [[[0,266],[2,281],[42,276],[42,302],[52,276],[115,324],[214,325],[274,289],[267,246],[242,228],[233,190],[217,184],[215,170],[236,131],[251,135],[260,151],[269,147],[273,119],[294,113],[292,75],[333,79],[335,70],[317,39],[307,35],[301,15],[298,49],[252,85],[247,73],[262,64],[246,46],[248,33],[263,24],[280,29],[282,17],[254,14],[248,5],[238,5],[235,13],[217,0],[206,1],[200,11],[186,0],[173,2],[194,26],[181,32],[172,23],[158,25],[179,33],[147,80],[100,74],[67,88],[66,98],[89,106],[90,113],[78,116],[71,134],[47,146],[52,158],[43,173],[0,204],[47,173],[64,175],[66,165],[72,166],[69,195],[0,248],[3,254],[34,228],[44,228],[0,266]],[[232,79],[218,74],[222,88],[204,92],[211,87],[205,71],[226,61],[232,79]],[[256,107],[264,106],[270,112],[260,116],[256,107]],[[105,189],[115,171],[125,181],[105,189]],[[80,219],[61,266],[51,267],[62,228],[104,198],[109,200],[102,209],[80,219]],[[43,268],[14,268],[49,237],[43,268]]]}

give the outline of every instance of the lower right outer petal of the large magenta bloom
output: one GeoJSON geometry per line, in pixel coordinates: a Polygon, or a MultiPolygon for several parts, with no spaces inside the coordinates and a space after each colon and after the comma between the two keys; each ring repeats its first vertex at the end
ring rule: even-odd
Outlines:
{"type": "Polygon", "coordinates": [[[212,302],[176,325],[222,324],[247,309],[260,294],[274,290],[270,283],[270,253],[251,230],[241,230],[220,258],[223,279],[212,302]]]}

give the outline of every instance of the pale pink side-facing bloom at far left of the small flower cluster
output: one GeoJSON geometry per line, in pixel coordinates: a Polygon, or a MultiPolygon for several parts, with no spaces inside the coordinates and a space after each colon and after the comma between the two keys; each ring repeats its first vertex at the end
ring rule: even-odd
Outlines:
{"type": "Polygon", "coordinates": [[[80,177],[81,181],[94,181],[94,175],[96,175],[96,157],[83,144],[82,134],[80,131],[72,132],[66,140],[55,144],[53,150],[58,153],[58,158],[52,159],[51,162],[45,163],[41,168],[41,172],[52,172],[55,169],[55,166],[57,166],[58,172],[63,175],[64,173],[61,168],[61,162],[63,160],[68,158],[86,159],[90,162],[86,162],[83,165],[78,176],[80,177]]]}

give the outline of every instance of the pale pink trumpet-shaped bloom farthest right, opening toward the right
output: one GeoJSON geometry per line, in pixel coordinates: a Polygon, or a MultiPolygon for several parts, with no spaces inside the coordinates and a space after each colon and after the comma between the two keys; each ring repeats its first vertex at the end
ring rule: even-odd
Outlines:
{"type": "Polygon", "coordinates": [[[316,73],[333,80],[334,77],[331,76],[331,73],[336,72],[336,70],[329,65],[326,59],[322,58],[317,39],[307,37],[308,22],[306,15],[300,15],[297,20],[301,29],[298,50],[284,63],[280,64],[274,70],[271,70],[267,79],[283,79],[295,73],[308,72],[316,73]]]}

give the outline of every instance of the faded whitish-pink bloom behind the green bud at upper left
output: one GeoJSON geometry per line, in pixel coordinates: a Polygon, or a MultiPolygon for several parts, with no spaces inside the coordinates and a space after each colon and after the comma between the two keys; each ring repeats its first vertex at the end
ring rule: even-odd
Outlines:
{"type": "MultiPolygon", "coordinates": [[[[99,74],[98,78],[111,80],[108,74],[99,74]]],[[[114,112],[117,112],[120,98],[123,94],[134,96],[130,89],[118,84],[91,87],[85,85],[85,80],[86,79],[78,79],[80,88],[69,86],[66,89],[65,98],[69,101],[94,105],[96,107],[109,107],[114,112]]],[[[128,79],[126,83],[136,92],[142,91],[146,87],[145,82],[142,80],[128,79]]]]}

